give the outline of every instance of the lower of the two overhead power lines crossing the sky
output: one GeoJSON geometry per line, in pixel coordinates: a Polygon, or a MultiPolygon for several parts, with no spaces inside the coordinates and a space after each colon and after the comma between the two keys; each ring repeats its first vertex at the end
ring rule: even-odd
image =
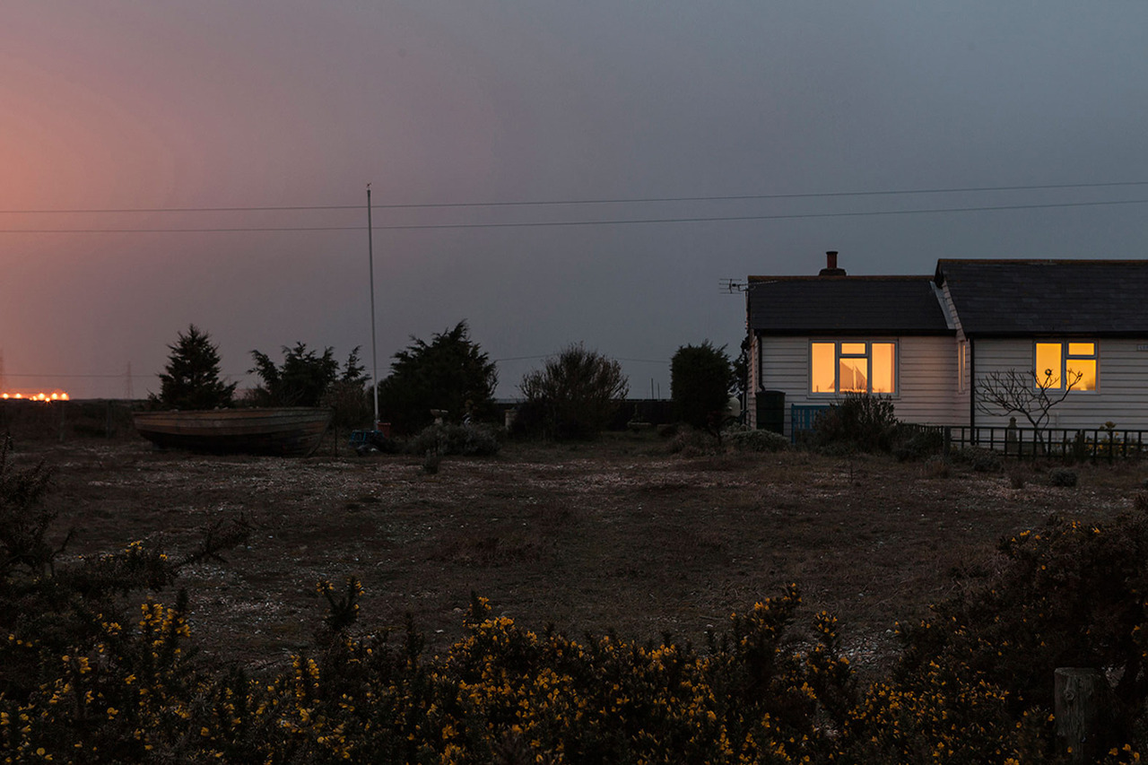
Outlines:
{"type": "MultiPolygon", "coordinates": [[[[1146,204],[1148,199],[1110,200],[1097,202],[1048,202],[1041,204],[985,204],[974,207],[916,208],[906,210],[859,210],[846,212],[783,212],[775,215],[681,216],[662,218],[613,218],[599,221],[518,221],[505,223],[424,223],[375,225],[375,231],[428,231],[448,229],[530,229],[552,226],[610,226],[662,223],[732,223],[738,221],[785,221],[799,218],[851,218],[879,215],[929,215],[949,212],[994,212],[1002,210],[1041,210],[1056,208],[1112,207],[1117,204],[1146,204]]],[[[0,233],[239,233],[273,231],[366,231],[366,226],[234,226],[201,229],[0,229],[0,233]]]]}

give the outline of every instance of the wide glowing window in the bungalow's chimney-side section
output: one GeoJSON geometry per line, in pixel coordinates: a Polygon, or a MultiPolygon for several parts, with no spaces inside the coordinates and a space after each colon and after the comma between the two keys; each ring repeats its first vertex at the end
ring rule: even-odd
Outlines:
{"type": "Polygon", "coordinates": [[[810,343],[809,392],[895,393],[897,343],[810,343]]]}

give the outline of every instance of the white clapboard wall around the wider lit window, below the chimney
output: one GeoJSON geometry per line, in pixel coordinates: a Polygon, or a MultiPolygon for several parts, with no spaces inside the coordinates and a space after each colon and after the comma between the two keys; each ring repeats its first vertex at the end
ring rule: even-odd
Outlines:
{"type": "MultiPolygon", "coordinates": [[[[830,338],[817,338],[829,340],[830,338]]],[[[898,393],[893,410],[899,419],[930,425],[962,425],[968,420],[968,396],[956,393],[956,341],[953,337],[867,337],[893,340],[898,347],[898,393]]],[[[790,407],[830,404],[837,396],[809,394],[808,337],[758,338],[754,391],[785,392],[785,433],[792,433],[790,407]]],[[[751,418],[757,412],[751,405],[751,418]]],[[[755,425],[755,423],[754,423],[755,425]]]]}

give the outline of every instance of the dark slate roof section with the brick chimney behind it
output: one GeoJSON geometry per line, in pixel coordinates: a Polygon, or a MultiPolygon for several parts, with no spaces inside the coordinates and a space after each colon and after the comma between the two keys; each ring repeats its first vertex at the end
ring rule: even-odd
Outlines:
{"type": "Polygon", "coordinates": [[[953,334],[930,277],[750,277],[750,330],[953,334]]]}

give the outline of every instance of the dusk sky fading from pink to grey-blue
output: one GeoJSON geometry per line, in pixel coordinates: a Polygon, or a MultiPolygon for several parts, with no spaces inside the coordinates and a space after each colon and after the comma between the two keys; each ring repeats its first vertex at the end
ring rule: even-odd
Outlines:
{"type": "Polygon", "coordinates": [[[723,279],[1148,256],[1146,141],[1142,0],[5,0],[2,385],[370,365],[370,183],[380,376],[467,319],[501,396],[579,341],[667,396],[723,279]]]}

